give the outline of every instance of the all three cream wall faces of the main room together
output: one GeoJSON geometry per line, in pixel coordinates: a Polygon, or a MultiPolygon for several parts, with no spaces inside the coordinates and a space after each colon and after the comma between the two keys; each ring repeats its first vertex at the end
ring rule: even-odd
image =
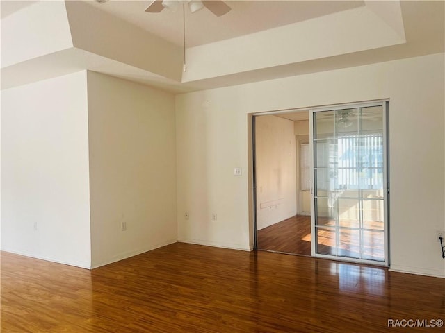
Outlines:
{"type": "Polygon", "coordinates": [[[3,90],[2,249],[76,266],[90,237],[92,266],[177,238],[248,250],[249,114],[388,98],[391,268],[444,277],[444,71],[440,53],[175,99],[89,73],[89,118],[85,72],[3,90]]]}

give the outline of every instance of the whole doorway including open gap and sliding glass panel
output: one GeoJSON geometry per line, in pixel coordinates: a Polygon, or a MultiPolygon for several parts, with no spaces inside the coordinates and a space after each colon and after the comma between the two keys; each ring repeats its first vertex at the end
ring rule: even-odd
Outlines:
{"type": "Polygon", "coordinates": [[[254,115],[258,250],[389,264],[388,105],[254,115]]]}

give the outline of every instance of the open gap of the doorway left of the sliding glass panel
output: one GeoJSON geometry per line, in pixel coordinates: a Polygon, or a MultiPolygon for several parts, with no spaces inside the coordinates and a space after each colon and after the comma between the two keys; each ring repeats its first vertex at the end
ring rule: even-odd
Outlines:
{"type": "Polygon", "coordinates": [[[257,248],[312,255],[309,110],[254,119],[257,248]]]}

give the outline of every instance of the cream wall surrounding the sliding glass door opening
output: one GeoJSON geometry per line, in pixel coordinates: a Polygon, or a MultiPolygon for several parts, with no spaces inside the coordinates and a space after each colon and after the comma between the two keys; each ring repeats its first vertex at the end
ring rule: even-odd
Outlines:
{"type": "Polygon", "coordinates": [[[177,96],[179,239],[252,246],[249,113],[389,98],[391,268],[445,277],[444,70],[439,53],[177,96]]]}

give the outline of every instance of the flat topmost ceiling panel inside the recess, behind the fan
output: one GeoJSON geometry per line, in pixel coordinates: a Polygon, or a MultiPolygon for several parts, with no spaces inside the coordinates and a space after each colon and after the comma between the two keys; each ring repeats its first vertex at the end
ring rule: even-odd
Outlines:
{"type": "MultiPolygon", "coordinates": [[[[182,46],[182,6],[161,12],[145,12],[151,0],[109,0],[91,6],[120,17],[164,40],[182,46]]],[[[277,26],[302,22],[364,6],[364,1],[225,1],[232,10],[216,17],[207,8],[191,13],[186,7],[186,46],[197,46],[264,31],[277,26]]]]}

